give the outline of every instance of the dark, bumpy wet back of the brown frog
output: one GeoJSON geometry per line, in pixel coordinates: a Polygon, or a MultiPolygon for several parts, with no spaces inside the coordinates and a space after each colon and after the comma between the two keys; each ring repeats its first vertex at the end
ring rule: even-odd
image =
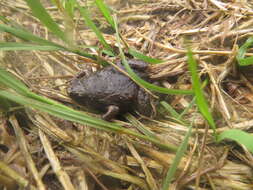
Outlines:
{"type": "Polygon", "coordinates": [[[99,107],[117,105],[124,109],[137,96],[139,87],[127,76],[109,66],[83,79],[87,101],[94,99],[99,107]]]}

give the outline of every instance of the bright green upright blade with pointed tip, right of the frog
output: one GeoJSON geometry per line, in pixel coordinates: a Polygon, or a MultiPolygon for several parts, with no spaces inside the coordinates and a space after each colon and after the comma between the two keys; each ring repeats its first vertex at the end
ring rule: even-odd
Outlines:
{"type": "Polygon", "coordinates": [[[196,96],[196,103],[199,108],[200,113],[208,121],[209,125],[212,127],[215,137],[216,136],[216,125],[213,120],[212,114],[209,111],[207,100],[205,99],[204,93],[202,91],[201,82],[197,73],[197,62],[193,58],[192,51],[188,49],[187,52],[189,70],[192,76],[193,90],[196,96]]]}

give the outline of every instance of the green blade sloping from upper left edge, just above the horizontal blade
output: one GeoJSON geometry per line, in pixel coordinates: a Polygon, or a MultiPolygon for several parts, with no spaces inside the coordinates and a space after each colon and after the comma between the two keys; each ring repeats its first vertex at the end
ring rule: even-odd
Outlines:
{"type": "Polygon", "coordinates": [[[26,31],[26,30],[22,30],[20,28],[13,28],[13,27],[7,26],[5,24],[0,24],[0,31],[10,33],[10,34],[12,34],[20,39],[26,40],[26,41],[63,48],[59,44],[56,44],[56,43],[50,42],[48,40],[45,40],[43,38],[40,38],[38,36],[35,36],[31,32],[26,31]]]}

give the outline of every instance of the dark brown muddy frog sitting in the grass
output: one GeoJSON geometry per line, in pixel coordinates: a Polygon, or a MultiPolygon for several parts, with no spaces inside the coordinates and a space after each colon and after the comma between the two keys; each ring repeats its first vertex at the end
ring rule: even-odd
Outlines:
{"type": "MultiPolygon", "coordinates": [[[[151,82],[148,63],[130,59],[128,64],[139,77],[151,82]]],[[[116,66],[125,71],[121,61],[117,61],[116,66]]],[[[155,115],[154,98],[112,65],[89,75],[80,73],[71,80],[67,92],[78,105],[101,112],[102,119],[107,121],[134,111],[147,117],[155,115]]]]}

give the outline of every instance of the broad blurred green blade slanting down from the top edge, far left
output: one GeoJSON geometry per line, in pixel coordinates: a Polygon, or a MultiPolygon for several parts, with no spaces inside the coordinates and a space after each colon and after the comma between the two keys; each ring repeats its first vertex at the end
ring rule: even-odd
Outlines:
{"type": "Polygon", "coordinates": [[[48,12],[42,6],[39,0],[25,0],[25,1],[32,10],[33,15],[37,17],[41,21],[41,23],[43,23],[52,33],[54,33],[64,42],[68,42],[65,33],[60,29],[58,24],[48,14],[48,12]]]}

